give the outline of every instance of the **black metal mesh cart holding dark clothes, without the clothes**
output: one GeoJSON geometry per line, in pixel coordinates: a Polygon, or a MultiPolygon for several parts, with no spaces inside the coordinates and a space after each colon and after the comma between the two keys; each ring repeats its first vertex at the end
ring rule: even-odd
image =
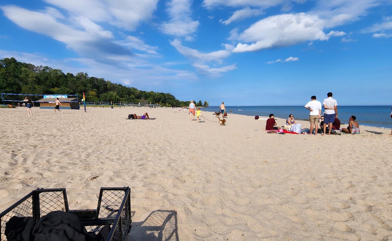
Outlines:
{"type": "Polygon", "coordinates": [[[87,232],[98,234],[111,225],[106,241],[126,241],[131,231],[131,200],[129,187],[102,187],[97,209],[69,210],[65,188],[38,188],[0,214],[0,240],[5,237],[5,224],[13,217],[33,217],[37,222],[52,211],[71,212],[78,216],[87,232]]]}

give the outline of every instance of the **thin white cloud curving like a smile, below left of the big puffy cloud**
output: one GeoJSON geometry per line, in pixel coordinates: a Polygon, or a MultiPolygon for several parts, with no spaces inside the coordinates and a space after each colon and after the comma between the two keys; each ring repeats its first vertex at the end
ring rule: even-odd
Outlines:
{"type": "Polygon", "coordinates": [[[182,55],[196,61],[201,61],[201,62],[210,62],[210,61],[216,61],[218,63],[222,63],[223,58],[227,58],[231,54],[231,50],[233,49],[233,46],[230,44],[225,45],[225,50],[219,50],[219,51],[213,51],[210,53],[202,53],[197,51],[196,49],[191,49],[189,47],[185,47],[182,45],[181,41],[178,39],[173,40],[170,42],[171,45],[173,45],[178,52],[180,52],[182,55]]]}

